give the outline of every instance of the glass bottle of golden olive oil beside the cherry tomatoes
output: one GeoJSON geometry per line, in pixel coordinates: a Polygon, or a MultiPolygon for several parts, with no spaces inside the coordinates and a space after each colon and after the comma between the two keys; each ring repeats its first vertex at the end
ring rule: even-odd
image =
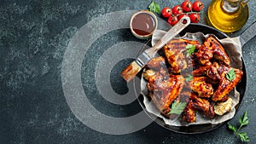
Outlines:
{"type": "Polygon", "coordinates": [[[210,25],[222,32],[236,32],[248,19],[248,0],[212,0],[208,8],[210,25]]]}

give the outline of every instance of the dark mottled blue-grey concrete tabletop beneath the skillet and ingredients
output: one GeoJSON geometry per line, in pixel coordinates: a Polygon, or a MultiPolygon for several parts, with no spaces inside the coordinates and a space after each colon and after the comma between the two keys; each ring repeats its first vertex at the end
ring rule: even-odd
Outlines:
{"type": "MultiPolygon", "coordinates": [[[[182,3],[182,1],[158,0],[156,2],[160,3],[161,8],[182,3]]],[[[206,23],[206,11],[210,2],[210,0],[204,1],[205,9],[201,14],[201,23],[206,23]]],[[[104,14],[115,11],[147,9],[148,3],[150,0],[2,0],[0,2],[0,143],[241,143],[227,130],[226,125],[206,134],[182,135],[166,130],[153,122],[141,130],[125,135],[105,134],[90,129],[82,123],[84,119],[79,119],[71,111],[63,90],[66,82],[61,78],[68,43],[76,32],[91,20],[96,20],[99,16],[104,18],[104,14]]],[[[250,16],[246,26],[232,36],[238,36],[255,20],[256,3],[250,1],[249,7],[250,16]]],[[[104,20],[98,20],[98,23],[102,21],[104,20]]],[[[108,26],[108,23],[104,26],[108,26]]],[[[100,28],[96,27],[96,30],[100,28]]],[[[255,40],[253,38],[242,49],[247,69],[247,91],[235,118],[230,120],[231,124],[238,124],[239,117],[247,111],[250,123],[242,131],[246,131],[249,135],[251,139],[249,143],[256,143],[255,40]]],[[[98,111],[113,118],[125,118],[142,111],[137,101],[127,105],[115,105],[102,98],[96,89],[97,60],[106,49],[127,41],[146,43],[133,37],[129,29],[108,32],[97,38],[83,55],[80,69],[82,86],[90,103],[98,111]]],[[[118,55],[111,56],[114,59],[118,55]]],[[[129,61],[131,60],[122,60],[127,64],[129,61]]],[[[113,67],[120,71],[119,65],[113,67]]],[[[119,77],[117,72],[110,73],[112,89],[119,95],[125,95],[128,91],[125,89],[125,83],[119,83],[116,79],[119,77]]],[[[70,75],[73,75],[73,72],[70,75]]],[[[78,93],[74,91],[73,95],[77,96],[76,94],[78,93]]],[[[93,117],[93,113],[90,116],[93,117]]],[[[94,124],[97,122],[95,119],[94,124]]]]}

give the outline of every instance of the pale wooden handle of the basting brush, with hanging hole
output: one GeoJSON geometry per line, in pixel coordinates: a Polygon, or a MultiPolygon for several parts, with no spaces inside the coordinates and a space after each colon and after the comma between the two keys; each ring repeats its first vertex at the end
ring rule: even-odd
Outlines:
{"type": "Polygon", "coordinates": [[[154,47],[145,50],[146,53],[150,57],[153,57],[159,49],[161,49],[173,37],[177,36],[177,34],[179,32],[182,32],[185,27],[189,26],[189,23],[190,23],[189,17],[183,16],[183,18],[181,20],[179,20],[176,25],[172,26],[172,28],[168,32],[166,32],[164,37],[161,37],[161,39],[157,43],[154,44],[154,47]]]}

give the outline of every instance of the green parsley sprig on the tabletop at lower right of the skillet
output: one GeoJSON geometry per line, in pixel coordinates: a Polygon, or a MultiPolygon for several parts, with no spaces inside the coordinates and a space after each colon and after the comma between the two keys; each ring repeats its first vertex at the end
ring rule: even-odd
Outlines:
{"type": "Polygon", "coordinates": [[[236,127],[234,125],[228,123],[229,130],[233,131],[235,133],[236,137],[239,136],[242,142],[250,141],[249,136],[247,135],[246,132],[240,132],[241,127],[249,124],[249,118],[247,116],[247,112],[244,112],[242,117],[239,118],[239,123],[240,123],[240,126],[237,130],[236,130],[236,127]]]}

